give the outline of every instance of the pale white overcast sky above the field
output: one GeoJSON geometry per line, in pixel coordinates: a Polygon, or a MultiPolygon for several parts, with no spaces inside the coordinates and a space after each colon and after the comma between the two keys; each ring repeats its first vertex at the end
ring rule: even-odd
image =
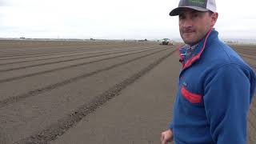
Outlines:
{"type": "MultiPolygon", "coordinates": [[[[220,38],[256,39],[254,0],[216,0],[220,38]]],[[[178,0],[0,0],[0,38],[180,38],[178,0]]]]}

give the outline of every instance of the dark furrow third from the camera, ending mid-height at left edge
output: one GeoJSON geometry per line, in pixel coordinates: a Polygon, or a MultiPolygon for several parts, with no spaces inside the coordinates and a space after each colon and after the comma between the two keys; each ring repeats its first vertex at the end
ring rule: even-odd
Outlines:
{"type": "MultiPolygon", "coordinates": [[[[141,52],[135,52],[135,53],[130,53],[130,54],[139,54],[139,53],[146,52],[146,51],[150,51],[150,50],[144,50],[144,51],[141,51],[141,52]]],[[[70,69],[70,68],[77,67],[77,66],[84,66],[84,65],[95,63],[95,62],[102,62],[102,61],[105,61],[105,60],[109,60],[109,59],[112,59],[112,58],[119,58],[119,57],[127,56],[127,55],[130,55],[130,54],[122,54],[122,55],[118,55],[118,56],[114,56],[114,57],[110,57],[110,58],[98,59],[98,60],[91,61],[91,62],[82,62],[82,63],[78,63],[76,65],[63,66],[63,67],[60,67],[60,68],[57,68],[57,69],[53,69],[53,70],[45,70],[45,71],[40,71],[38,73],[26,74],[26,75],[21,75],[21,76],[18,76],[18,77],[13,77],[13,78],[5,78],[5,79],[1,79],[0,83],[11,82],[11,81],[14,81],[14,80],[17,80],[17,79],[21,79],[21,78],[32,77],[34,75],[47,74],[47,73],[51,73],[51,72],[58,71],[58,70],[70,69]]]]}

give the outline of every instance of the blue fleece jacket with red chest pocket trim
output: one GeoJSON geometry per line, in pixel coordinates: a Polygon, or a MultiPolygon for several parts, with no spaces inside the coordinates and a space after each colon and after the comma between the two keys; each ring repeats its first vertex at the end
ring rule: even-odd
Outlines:
{"type": "Polygon", "coordinates": [[[174,103],[175,144],[246,144],[246,118],[255,72],[210,30],[191,58],[179,48],[182,70],[174,103]]]}

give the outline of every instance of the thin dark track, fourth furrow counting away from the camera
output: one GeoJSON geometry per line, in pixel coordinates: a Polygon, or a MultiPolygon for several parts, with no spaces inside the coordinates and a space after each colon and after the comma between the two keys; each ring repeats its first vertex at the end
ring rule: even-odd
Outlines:
{"type": "MultiPolygon", "coordinates": [[[[110,54],[121,54],[125,52],[130,52],[130,51],[135,51],[135,50],[126,50],[126,51],[118,51],[118,52],[112,52],[110,54]]],[[[41,63],[41,64],[35,64],[35,65],[29,65],[29,66],[21,66],[21,67],[15,67],[15,68],[10,68],[10,69],[5,69],[5,70],[0,70],[0,72],[7,72],[7,71],[12,71],[12,70],[22,70],[26,68],[31,68],[31,67],[36,67],[36,66],[46,66],[46,65],[51,65],[51,64],[57,64],[61,62],[72,62],[72,61],[77,61],[81,59],[86,59],[86,58],[94,58],[94,57],[99,57],[99,56],[105,56],[105,55],[110,55],[110,54],[96,54],[96,55],[91,55],[91,56],[86,56],[86,57],[81,57],[81,58],[71,58],[71,59],[66,59],[66,60],[61,60],[61,61],[56,61],[56,62],[46,62],[46,63],[41,63]]]]}

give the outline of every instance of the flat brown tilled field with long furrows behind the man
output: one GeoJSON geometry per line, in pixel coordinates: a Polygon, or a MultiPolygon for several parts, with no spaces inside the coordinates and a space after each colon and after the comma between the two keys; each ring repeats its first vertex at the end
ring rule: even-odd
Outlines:
{"type": "MultiPolygon", "coordinates": [[[[256,46],[234,45],[256,69],[256,46]]],[[[176,94],[176,46],[0,41],[0,143],[160,143],[176,94]]],[[[256,98],[248,143],[256,142],[256,98]]]]}

